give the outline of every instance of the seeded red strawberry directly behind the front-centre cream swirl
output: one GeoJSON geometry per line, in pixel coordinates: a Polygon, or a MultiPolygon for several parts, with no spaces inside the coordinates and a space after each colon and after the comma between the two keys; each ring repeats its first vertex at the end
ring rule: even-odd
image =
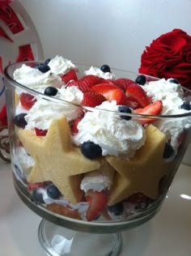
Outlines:
{"type": "Polygon", "coordinates": [[[94,108],[105,100],[105,97],[100,93],[84,92],[82,105],[94,108]]]}

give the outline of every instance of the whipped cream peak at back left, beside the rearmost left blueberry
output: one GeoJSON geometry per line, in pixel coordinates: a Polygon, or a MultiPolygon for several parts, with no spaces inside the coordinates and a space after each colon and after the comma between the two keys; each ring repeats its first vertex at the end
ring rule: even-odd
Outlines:
{"type": "Polygon", "coordinates": [[[77,67],[70,60],[58,55],[52,58],[48,65],[51,72],[56,75],[65,75],[70,70],[77,70],[77,67]]]}

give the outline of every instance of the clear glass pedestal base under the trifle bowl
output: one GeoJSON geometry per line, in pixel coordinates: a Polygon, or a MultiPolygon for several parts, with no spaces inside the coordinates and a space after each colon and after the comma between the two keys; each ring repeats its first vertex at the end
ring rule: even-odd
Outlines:
{"type": "Polygon", "coordinates": [[[42,220],[38,236],[49,256],[118,256],[121,252],[121,233],[83,233],[42,220]]]}

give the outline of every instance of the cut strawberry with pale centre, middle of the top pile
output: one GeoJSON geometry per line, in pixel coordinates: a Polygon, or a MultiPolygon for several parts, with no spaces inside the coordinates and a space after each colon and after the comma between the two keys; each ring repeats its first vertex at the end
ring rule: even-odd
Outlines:
{"type": "Polygon", "coordinates": [[[116,85],[108,83],[98,83],[92,86],[91,92],[102,94],[108,101],[116,100],[117,105],[123,105],[123,101],[125,100],[125,93],[116,85]]]}

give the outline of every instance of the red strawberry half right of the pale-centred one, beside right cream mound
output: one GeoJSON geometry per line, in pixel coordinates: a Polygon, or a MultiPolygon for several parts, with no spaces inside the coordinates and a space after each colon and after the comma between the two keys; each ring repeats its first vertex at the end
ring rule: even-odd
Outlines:
{"type": "Polygon", "coordinates": [[[126,88],[125,95],[137,100],[141,108],[144,108],[151,103],[149,97],[146,96],[146,92],[137,83],[129,84],[126,88]]]}

